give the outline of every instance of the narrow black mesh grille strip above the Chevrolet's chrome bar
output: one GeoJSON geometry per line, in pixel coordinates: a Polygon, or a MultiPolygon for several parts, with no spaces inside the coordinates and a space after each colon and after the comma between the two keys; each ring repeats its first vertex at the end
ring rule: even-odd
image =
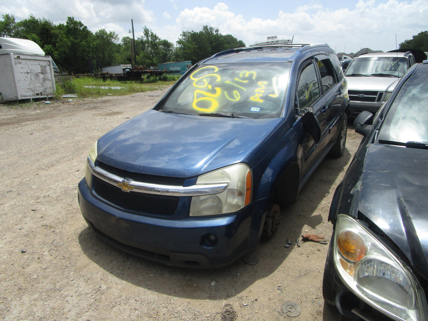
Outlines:
{"type": "Polygon", "coordinates": [[[182,177],[158,176],[128,172],[127,170],[116,168],[100,161],[97,162],[97,166],[119,177],[130,178],[134,181],[142,181],[151,184],[183,186],[185,180],[185,178],[182,177]]]}

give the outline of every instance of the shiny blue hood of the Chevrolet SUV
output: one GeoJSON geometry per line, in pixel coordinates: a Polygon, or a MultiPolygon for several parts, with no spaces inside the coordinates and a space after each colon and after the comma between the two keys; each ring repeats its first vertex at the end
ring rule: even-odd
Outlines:
{"type": "Polygon", "coordinates": [[[241,119],[148,110],[98,140],[97,160],[131,172],[193,177],[234,163],[253,166],[284,119],[241,119]]]}

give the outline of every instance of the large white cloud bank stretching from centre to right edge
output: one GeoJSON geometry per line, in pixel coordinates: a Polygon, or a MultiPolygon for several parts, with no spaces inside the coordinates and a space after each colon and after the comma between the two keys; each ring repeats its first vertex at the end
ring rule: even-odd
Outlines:
{"type": "MultiPolygon", "coordinates": [[[[195,7],[180,12],[175,20],[179,33],[182,30],[199,31],[203,25],[218,27],[223,34],[232,34],[246,45],[263,40],[266,36],[287,38],[294,36],[294,42],[327,42],[337,51],[358,51],[369,47],[374,50],[395,49],[395,33],[398,43],[424,31],[428,16],[427,0],[410,3],[389,0],[376,4],[374,0],[360,0],[354,7],[336,10],[326,9],[320,3],[298,7],[295,12],[279,10],[276,17],[262,20],[244,20],[241,15],[230,12],[224,3],[214,8],[195,7]]],[[[159,28],[161,38],[175,42],[159,28]]],[[[171,34],[170,34],[171,35],[171,34]]]]}

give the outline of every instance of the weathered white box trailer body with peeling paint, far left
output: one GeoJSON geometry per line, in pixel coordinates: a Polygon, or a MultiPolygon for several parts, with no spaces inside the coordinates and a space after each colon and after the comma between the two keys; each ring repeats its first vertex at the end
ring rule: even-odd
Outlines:
{"type": "Polygon", "coordinates": [[[0,54],[0,99],[48,98],[55,94],[50,56],[0,54]]]}

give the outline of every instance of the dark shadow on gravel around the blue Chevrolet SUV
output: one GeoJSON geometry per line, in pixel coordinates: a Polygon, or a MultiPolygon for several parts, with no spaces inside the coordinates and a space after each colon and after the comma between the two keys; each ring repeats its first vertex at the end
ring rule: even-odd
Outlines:
{"type": "MultiPolygon", "coordinates": [[[[247,265],[240,259],[220,270],[170,267],[123,253],[102,241],[89,228],[79,234],[80,247],[95,264],[135,286],[187,299],[226,300],[240,294],[281,266],[291,253],[291,250],[284,249],[287,238],[299,238],[305,224],[315,229],[323,222],[321,214],[315,212],[322,200],[334,192],[330,189],[351,157],[351,153],[345,149],[341,158],[327,157],[321,162],[300,191],[297,202],[282,208],[277,234],[270,241],[260,243],[254,253],[259,260],[257,265],[247,265]]],[[[330,235],[325,237],[330,239],[330,235]]],[[[324,320],[338,318],[337,310],[327,304],[324,305],[323,313],[324,320]]]]}

